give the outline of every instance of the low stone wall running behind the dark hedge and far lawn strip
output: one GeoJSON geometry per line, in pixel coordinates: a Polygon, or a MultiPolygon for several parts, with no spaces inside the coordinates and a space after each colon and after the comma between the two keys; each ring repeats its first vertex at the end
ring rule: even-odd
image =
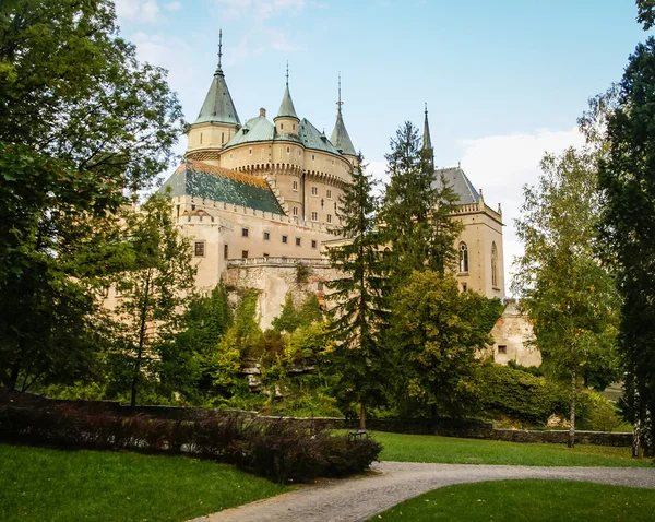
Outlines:
{"type": "MultiPolygon", "coordinates": [[[[70,404],[88,411],[110,412],[116,415],[130,415],[130,406],[112,401],[69,401],[48,399],[31,393],[10,392],[0,389],[0,403],[20,402],[22,405],[47,408],[53,404],[70,404]]],[[[238,414],[247,418],[262,418],[278,420],[281,417],[259,415],[257,412],[235,410],[205,410],[200,407],[179,406],[136,406],[134,413],[170,420],[200,420],[203,418],[219,417],[222,415],[238,414]]],[[[337,417],[284,417],[308,429],[356,429],[357,419],[337,417]]],[[[569,438],[567,430],[526,430],[526,429],[496,429],[491,423],[483,420],[454,420],[454,419],[417,419],[394,418],[367,420],[367,429],[372,431],[389,431],[394,434],[413,435],[440,435],[443,437],[461,437],[467,439],[504,440],[509,442],[541,442],[551,444],[565,444],[569,438]]],[[[632,434],[617,434],[608,431],[575,431],[575,442],[579,444],[597,444],[614,447],[630,447],[632,434]]]]}

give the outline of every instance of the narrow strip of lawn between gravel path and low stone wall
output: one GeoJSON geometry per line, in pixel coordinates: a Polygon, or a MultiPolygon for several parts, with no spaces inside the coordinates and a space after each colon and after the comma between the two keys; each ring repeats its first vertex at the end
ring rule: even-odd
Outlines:
{"type": "Polygon", "coordinates": [[[382,461],[531,466],[651,466],[650,459],[631,459],[630,448],[535,444],[499,440],[457,439],[430,435],[372,431],[382,442],[382,461]]]}

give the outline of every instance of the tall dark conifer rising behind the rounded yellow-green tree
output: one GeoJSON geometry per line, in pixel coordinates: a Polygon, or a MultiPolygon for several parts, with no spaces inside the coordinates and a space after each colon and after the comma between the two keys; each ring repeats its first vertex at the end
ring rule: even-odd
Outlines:
{"type": "Polygon", "coordinates": [[[385,156],[391,179],[380,210],[391,271],[398,280],[414,270],[443,274],[454,262],[462,229],[451,217],[457,195],[443,176],[437,178],[431,150],[421,146],[410,122],[396,132],[391,149],[385,156]]]}

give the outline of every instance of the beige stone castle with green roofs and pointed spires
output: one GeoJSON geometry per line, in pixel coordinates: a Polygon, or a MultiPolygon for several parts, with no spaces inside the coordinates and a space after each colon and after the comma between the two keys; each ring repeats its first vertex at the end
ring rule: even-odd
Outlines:
{"type": "MultiPolygon", "coordinates": [[[[358,162],[341,102],[330,138],[298,116],[287,81],[273,121],[266,110],[241,123],[221,63],[188,131],[181,165],[165,182],[174,215],[191,239],[196,287],[219,281],[259,288],[262,327],[279,313],[288,290],[315,292],[333,271],[324,256],[337,240],[337,204],[358,162]],[[297,276],[305,265],[307,276],[297,276]]],[[[431,149],[427,108],[424,146],[431,149]]],[[[456,277],[463,292],[504,297],[502,214],[489,207],[460,166],[438,169],[460,205],[456,277]]]]}

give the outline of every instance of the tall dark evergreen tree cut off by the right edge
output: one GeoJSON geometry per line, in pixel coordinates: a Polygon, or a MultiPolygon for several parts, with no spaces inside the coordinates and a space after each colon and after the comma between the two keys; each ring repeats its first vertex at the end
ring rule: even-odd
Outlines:
{"type": "Polygon", "coordinates": [[[602,238],[618,272],[623,298],[620,352],[626,366],[626,411],[644,451],[655,453],[655,38],[640,44],[619,84],[609,118],[609,153],[598,174],[602,238]]]}

